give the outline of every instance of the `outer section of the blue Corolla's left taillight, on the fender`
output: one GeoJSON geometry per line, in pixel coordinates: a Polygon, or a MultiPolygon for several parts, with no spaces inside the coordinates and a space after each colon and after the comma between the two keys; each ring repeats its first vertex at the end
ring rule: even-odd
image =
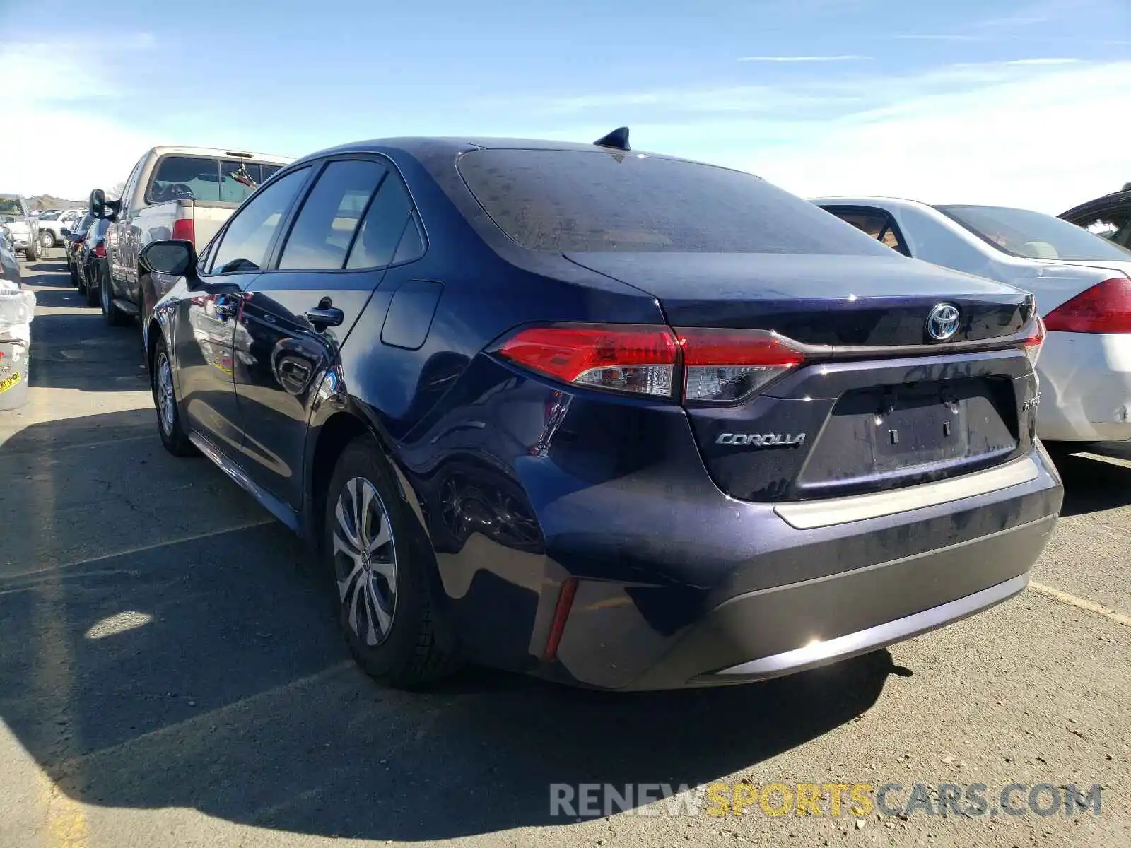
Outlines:
{"type": "Polygon", "coordinates": [[[671,397],[677,360],[666,327],[568,325],[523,330],[499,355],[562,382],[671,397]]]}

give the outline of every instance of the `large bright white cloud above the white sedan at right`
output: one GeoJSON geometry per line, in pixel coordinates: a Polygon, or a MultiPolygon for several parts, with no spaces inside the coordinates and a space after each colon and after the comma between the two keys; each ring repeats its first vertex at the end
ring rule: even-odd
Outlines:
{"type": "Polygon", "coordinates": [[[1024,75],[991,73],[981,86],[810,121],[725,164],[803,196],[889,194],[1052,214],[1126,182],[1124,147],[1105,144],[1102,128],[1128,126],[1131,61],[1013,70],[1024,75]]]}

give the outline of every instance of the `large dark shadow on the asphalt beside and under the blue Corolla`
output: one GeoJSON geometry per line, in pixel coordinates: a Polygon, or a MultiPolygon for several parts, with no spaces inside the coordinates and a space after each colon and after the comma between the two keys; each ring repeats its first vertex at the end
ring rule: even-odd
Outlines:
{"type": "Polygon", "coordinates": [[[723,690],[615,695],[478,669],[387,690],[349,661],[328,581],[282,526],[193,536],[250,501],[164,455],[148,415],[31,425],[0,470],[34,484],[9,493],[9,527],[46,528],[0,556],[0,719],[88,804],[391,840],[560,824],[551,784],[742,772],[860,716],[897,670],[881,651],[723,690]],[[150,483],[121,482],[130,462],[150,483]],[[68,531],[93,554],[63,551],[68,531]]]}

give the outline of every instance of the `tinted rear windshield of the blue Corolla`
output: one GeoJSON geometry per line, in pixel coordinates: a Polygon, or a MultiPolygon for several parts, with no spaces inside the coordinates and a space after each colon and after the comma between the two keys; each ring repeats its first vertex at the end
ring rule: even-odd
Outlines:
{"type": "Polygon", "coordinates": [[[891,250],[751,174],[604,150],[473,150],[459,173],[500,230],[560,253],[891,250]]]}

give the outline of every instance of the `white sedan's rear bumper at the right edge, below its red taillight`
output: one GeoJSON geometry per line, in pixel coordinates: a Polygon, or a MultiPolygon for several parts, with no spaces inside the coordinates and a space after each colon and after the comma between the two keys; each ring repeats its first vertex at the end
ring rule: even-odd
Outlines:
{"type": "Polygon", "coordinates": [[[1131,335],[1050,332],[1037,372],[1041,439],[1131,439],[1131,335]]]}

